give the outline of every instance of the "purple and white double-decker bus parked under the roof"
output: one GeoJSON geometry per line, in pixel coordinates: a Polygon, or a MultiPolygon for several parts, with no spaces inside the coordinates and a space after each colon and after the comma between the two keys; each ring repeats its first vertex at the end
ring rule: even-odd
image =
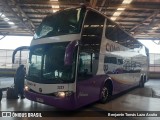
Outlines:
{"type": "Polygon", "coordinates": [[[66,110],[106,103],[144,87],[148,63],[148,49],[107,16],[85,6],[65,9],[45,17],[33,36],[25,97],[66,110]],[[117,72],[106,72],[114,59],[117,72]]]}

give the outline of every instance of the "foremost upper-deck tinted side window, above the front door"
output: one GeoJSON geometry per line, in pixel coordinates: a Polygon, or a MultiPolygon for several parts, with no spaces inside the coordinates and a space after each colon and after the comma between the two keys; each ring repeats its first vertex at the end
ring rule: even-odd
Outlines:
{"type": "Polygon", "coordinates": [[[94,47],[99,52],[104,20],[105,18],[101,14],[88,11],[82,31],[82,44],[86,44],[90,48],[94,47]]]}

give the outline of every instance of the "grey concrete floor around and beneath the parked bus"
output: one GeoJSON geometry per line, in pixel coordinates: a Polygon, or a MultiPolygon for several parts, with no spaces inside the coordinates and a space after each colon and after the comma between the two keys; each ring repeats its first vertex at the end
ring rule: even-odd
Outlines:
{"type": "MultiPolygon", "coordinates": [[[[12,84],[13,78],[10,79],[12,84]]],[[[0,78],[1,80],[1,78],[0,78]]],[[[7,83],[9,85],[9,83],[7,83]]],[[[52,111],[55,117],[42,117],[38,120],[75,120],[75,119],[102,119],[102,120],[159,120],[160,119],[160,80],[149,80],[144,88],[135,88],[122,95],[115,96],[113,100],[106,104],[93,103],[85,106],[77,111],[64,114],[66,111],[58,110],[52,106],[43,105],[36,102],[31,102],[27,99],[18,100],[6,100],[5,91],[3,92],[3,99],[0,103],[1,111],[52,111]],[[58,111],[58,112],[57,112],[58,111]],[[135,114],[139,114],[138,111],[159,111],[159,117],[107,117],[108,113],[117,113],[115,111],[137,111],[135,114]]],[[[49,115],[50,112],[48,112],[49,115]]],[[[154,112],[152,112],[154,113],[154,112]]],[[[125,114],[125,113],[124,113],[125,114]]],[[[0,120],[17,120],[17,118],[2,118],[0,120]]],[[[23,120],[32,120],[35,118],[19,118],[23,120]]]]}

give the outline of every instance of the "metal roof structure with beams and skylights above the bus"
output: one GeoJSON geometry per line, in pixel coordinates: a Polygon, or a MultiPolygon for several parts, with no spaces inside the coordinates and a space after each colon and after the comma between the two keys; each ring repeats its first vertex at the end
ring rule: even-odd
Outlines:
{"type": "Polygon", "coordinates": [[[138,39],[160,40],[160,0],[0,0],[0,35],[32,36],[57,10],[91,6],[138,39]]]}

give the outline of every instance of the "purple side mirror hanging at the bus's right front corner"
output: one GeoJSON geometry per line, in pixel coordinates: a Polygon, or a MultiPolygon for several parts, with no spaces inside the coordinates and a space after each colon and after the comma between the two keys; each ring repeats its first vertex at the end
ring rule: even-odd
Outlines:
{"type": "Polygon", "coordinates": [[[77,46],[78,46],[77,41],[71,41],[67,45],[66,51],[65,51],[65,57],[64,57],[64,65],[71,65],[73,63],[73,55],[77,46]]]}

